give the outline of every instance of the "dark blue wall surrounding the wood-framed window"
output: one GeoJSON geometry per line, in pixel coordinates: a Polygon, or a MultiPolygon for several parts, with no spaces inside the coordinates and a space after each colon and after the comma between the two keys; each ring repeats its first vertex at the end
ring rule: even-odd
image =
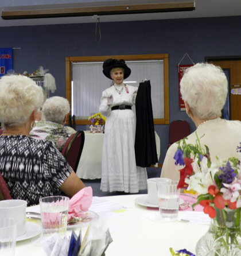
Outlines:
{"type": "MultiPolygon", "coordinates": [[[[102,40],[95,41],[95,24],[17,26],[0,28],[0,47],[13,50],[15,72],[32,73],[40,65],[56,79],[54,95],[65,97],[65,57],[103,55],[169,54],[170,122],[185,119],[178,105],[176,65],[185,53],[194,63],[205,56],[241,55],[241,16],[178,20],[101,23],[102,40]]],[[[191,64],[185,57],[182,64],[191,64]]],[[[53,96],[50,95],[50,96],[53,96]]],[[[79,129],[84,129],[80,126],[79,129]]],[[[156,125],[161,139],[160,163],[168,145],[169,125],[156,125]]]]}

